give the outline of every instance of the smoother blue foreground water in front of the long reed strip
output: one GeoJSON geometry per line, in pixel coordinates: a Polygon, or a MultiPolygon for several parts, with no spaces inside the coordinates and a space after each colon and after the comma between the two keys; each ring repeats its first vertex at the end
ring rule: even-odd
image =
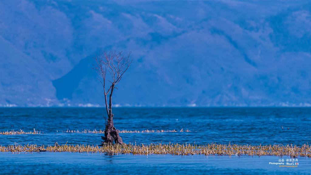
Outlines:
{"type": "MultiPolygon", "coordinates": [[[[0,153],[0,174],[308,174],[310,158],[279,167],[276,156],[172,156],[100,153],[0,153]],[[16,168],[19,167],[19,168],[16,168]]],[[[285,163],[289,157],[283,157],[285,163]]]]}

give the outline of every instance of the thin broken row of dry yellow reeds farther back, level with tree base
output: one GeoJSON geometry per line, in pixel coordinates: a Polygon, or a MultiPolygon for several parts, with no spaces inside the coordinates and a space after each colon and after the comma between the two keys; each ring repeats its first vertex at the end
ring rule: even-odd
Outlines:
{"type": "MultiPolygon", "coordinates": [[[[58,130],[56,131],[58,132],[58,130]]],[[[104,130],[66,130],[61,131],[63,133],[93,133],[93,134],[104,134],[104,130]]],[[[119,133],[153,133],[153,132],[191,132],[190,130],[120,130],[119,133]]],[[[43,133],[43,132],[42,132],[43,133]]],[[[42,134],[41,131],[24,132],[23,130],[11,130],[11,131],[0,131],[0,135],[16,135],[16,134],[42,134]]]]}

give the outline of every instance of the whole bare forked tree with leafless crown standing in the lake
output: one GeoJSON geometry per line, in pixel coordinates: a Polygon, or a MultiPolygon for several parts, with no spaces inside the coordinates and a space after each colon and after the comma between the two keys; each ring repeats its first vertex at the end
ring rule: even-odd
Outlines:
{"type": "Polygon", "coordinates": [[[119,136],[119,130],[114,127],[114,114],[112,113],[112,94],[114,89],[118,89],[116,85],[120,82],[123,74],[128,70],[132,64],[131,52],[127,55],[123,52],[116,52],[115,50],[106,52],[100,51],[94,57],[96,64],[93,64],[93,69],[100,75],[97,78],[104,88],[104,98],[108,120],[106,121],[105,137],[101,136],[104,140],[100,146],[104,144],[123,144],[122,138],[119,136]],[[108,74],[108,76],[107,76],[108,74]],[[107,86],[107,83],[109,85],[107,86]],[[109,105],[107,96],[109,94],[109,105]]]}

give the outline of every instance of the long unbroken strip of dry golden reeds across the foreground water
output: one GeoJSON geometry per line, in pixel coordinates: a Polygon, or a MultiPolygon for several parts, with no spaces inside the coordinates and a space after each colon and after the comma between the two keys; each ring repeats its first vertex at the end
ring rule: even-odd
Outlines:
{"type": "Polygon", "coordinates": [[[109,154],[172,154],[172,155],[250,155],[250,156],[290,156],[296,158],[306,156],[311,158],[311,146],[304,144],[296,145],[238,145],[238,144],[109,144],[94,145],[10,145],[0,146],[0,152],[92,152],[109,154]]]}

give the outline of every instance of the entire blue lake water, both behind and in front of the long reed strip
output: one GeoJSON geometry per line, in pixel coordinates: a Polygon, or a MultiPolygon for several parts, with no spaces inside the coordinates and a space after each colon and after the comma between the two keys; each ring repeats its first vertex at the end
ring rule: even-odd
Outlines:
{"type": "MultiPolygon", "coordinates": [[[[0,135],[1,145],[100,144],[101,134],[62,133],[67,129],[103,129],[103,108],[0,108],[0,130],[41,130],[40,135],[0,135]],[[57,132],[58,130],[58,132],[57,132]]],[[[123,133],[124,142],[228,144],[311,143],[311,108],[115,108],[119,130],[189,129],[177,133],[123,133]],[[284,130],[282,130],[283,126],[284,130]],[[289,130],[287,129],[289,128],[289,130]]],[[[276,156],[105,155],[87,153],[0,153],[0,174],[304,174],[311,159],[299,167],[269,165],[276,156]],[[19,168],[16,168],[16,167],[19,168]],[[108,170],[107,170],[108,168],[108,170]]]]}

